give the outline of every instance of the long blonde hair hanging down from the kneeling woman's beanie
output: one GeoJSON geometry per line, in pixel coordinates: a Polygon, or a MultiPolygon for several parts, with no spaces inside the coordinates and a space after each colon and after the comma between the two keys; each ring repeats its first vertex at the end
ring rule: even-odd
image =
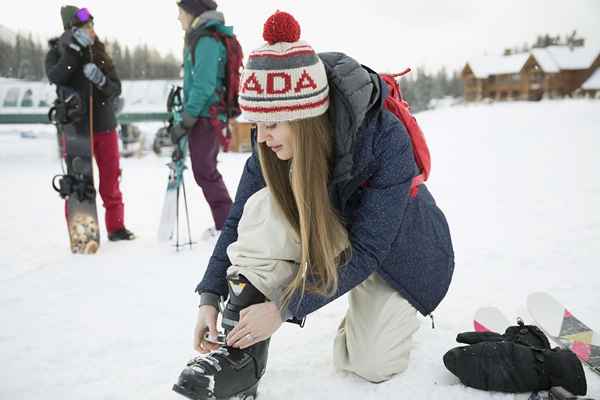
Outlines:
{"type": "Polygon", "coordinates": [[[348,232],[327,189],[334,157],[333,130],[327,114],[290,122],[293,157],[280,160],[259,145],[267,186],[300,238],[298,271],[283,292],[286,306],[296,290],[331,296],[338,287],[338,266],[348,259],[348,232]],[[307,275],[311,279],[307,282],[307,275]]]}

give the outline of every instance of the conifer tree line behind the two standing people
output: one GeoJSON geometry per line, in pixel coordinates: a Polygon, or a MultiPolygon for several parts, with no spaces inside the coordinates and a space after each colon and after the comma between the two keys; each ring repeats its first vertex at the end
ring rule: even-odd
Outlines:
{"type": "MultiPolygon", "coordinates": [[[[171,53],[162,56],[146,44],[129,48],[117,40],[105,40],[104,43],[121,79],[179,78],[181,61],[171,53]]],[[[34,40],[31,34],[16,35],[14,43],[0,38],[0,77],[45,80],[47,51],[48,45],[34,40]]]]}

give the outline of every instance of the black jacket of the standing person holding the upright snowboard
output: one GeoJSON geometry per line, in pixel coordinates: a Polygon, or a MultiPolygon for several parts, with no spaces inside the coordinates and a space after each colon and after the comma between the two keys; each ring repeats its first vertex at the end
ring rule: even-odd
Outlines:
{"type": "MultiPolygon", "coordinates": [[[[57,87],[69,87],[81,95],[86,110],[85,121],[87,121],[89,118],[87,110],[89,110],[90,81],[83,74],[83,66],[91,62],[90,51],[83,49],[79,52],[69,47],[68,35],[69,32],[65,32],[61,38],[48,42],[50,50],[46,55],[46,74],[50,83],[54,83],[57,87]]],[[[106,83],[102,87],[94,86],[93,89],[94,133],[115,129],[117,119],[114,103],[121,94],[121,81],[114,68],[108,72],[104,71],[102,66],[100,69],[106,76],[106,83]]],[[[85,126],[87,127],[87,123],[85,126]]]]}

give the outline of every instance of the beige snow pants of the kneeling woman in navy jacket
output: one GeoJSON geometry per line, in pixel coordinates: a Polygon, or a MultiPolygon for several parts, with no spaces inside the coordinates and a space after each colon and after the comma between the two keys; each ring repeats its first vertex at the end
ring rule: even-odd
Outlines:
{"type": "MultiPolygon", "coordinates": [[[[297,271],[300,241],[268,188],[253,194],[238,224],[238,240],[227,248],[227,275],[242,274],[269,300],[281,304],[297,271]]],[[[352,289],[333,345],[337,370],[382,382],[408,367],[417,312],[377,273],[352,289]]]]}

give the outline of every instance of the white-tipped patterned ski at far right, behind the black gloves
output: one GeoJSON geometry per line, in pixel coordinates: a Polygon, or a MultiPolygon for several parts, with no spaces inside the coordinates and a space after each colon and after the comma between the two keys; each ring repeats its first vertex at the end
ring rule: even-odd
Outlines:
{"type": "Polygon", "coordinates": [[[569,349],[600,375],[600,335],[577,319],[554,297],[544,292],[527,297],[529,314],[560,347],[569,349]]]}

